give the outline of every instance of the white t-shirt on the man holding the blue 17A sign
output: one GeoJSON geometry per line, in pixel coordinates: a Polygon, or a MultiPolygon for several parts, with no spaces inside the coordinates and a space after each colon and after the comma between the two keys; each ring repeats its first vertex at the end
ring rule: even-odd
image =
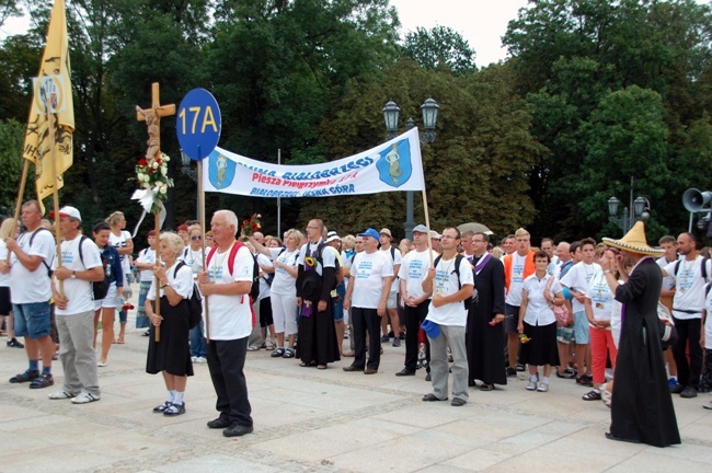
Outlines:
{"type": "MultiPolygon", "coordinates": [[[[220,253],[220,250],[218,250],[213,255],[213,258],[206,262],[210,281],[215,284],[252,282],[254,258],[250,250],[243,246],[234,255],[232,275],[230,275],[228,267],[229,255],[230,250],[225,253],[220,253]]],[[[208,296],[207,300],[210,311],[210,339],[231,341],[250,335],[252,332],[250,295],[211,295],[208,296]]],[[[207,326],[207,324],[204,325],[207,326]]]]}

